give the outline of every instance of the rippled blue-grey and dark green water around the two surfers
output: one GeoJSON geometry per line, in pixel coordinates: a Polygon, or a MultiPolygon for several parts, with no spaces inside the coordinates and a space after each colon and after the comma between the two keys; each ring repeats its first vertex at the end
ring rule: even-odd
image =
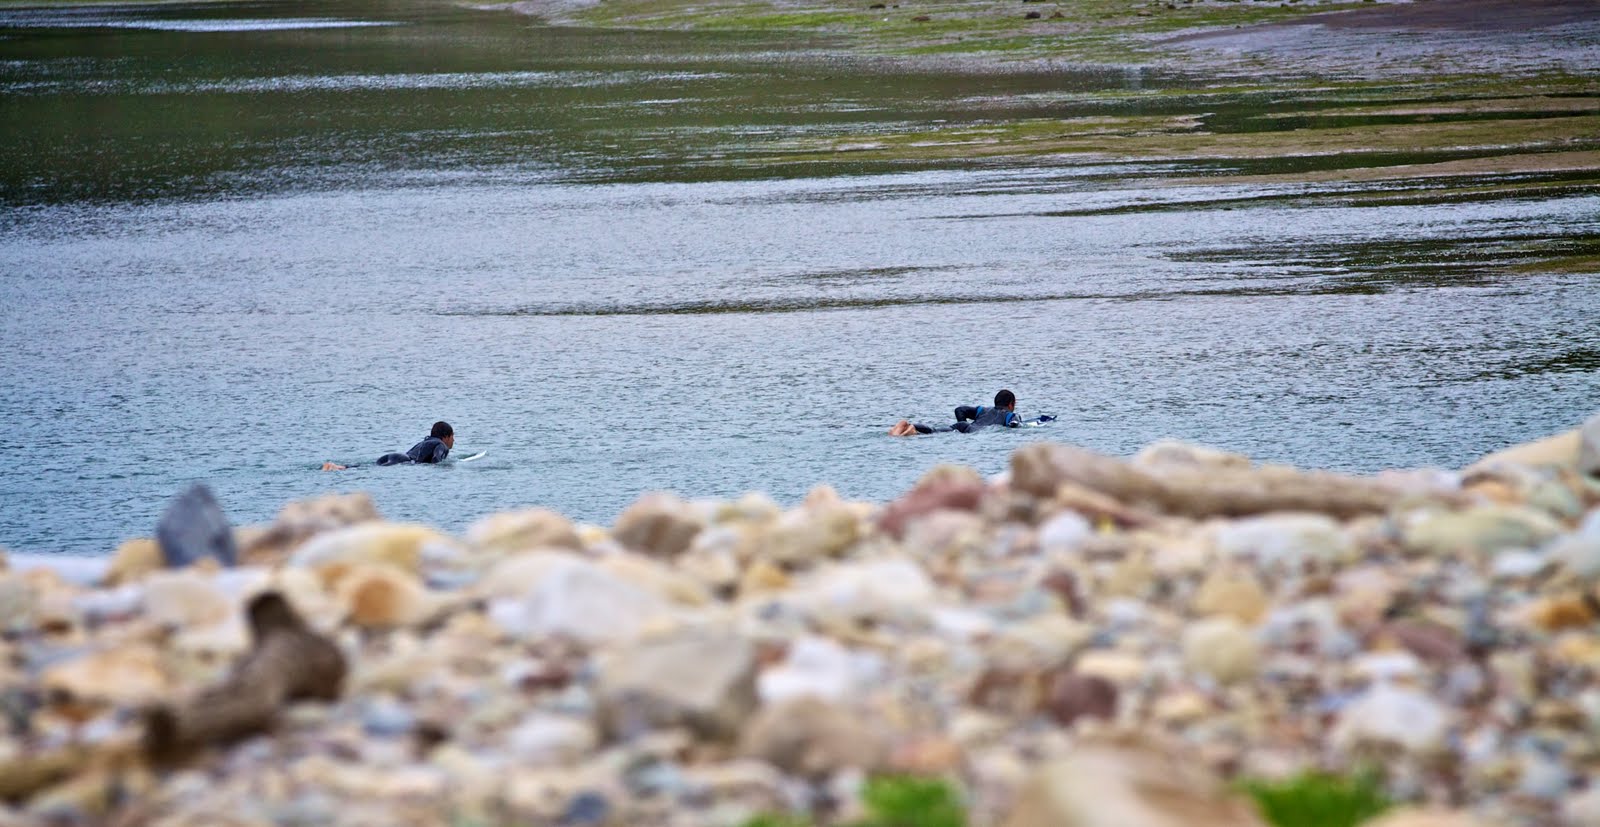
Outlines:
{"type": "Polygon", "coordinates": [[[446,528],[610,521],[654,488],[888,497],[1032,438],[1459,465],[1600,408],[1597,278],[1509,267],[1592,250],[1592,190],[794,163],[797,136],[1198,82],[790,48],[451,6],[0,11],[0,544],[104,552],[195,480],[235,521],[346,489],[446,528]],[[1061,421],[883,435],[1002,386],[1061,421]],[[488,456],[315,470],[438,417],[488,456]]]}

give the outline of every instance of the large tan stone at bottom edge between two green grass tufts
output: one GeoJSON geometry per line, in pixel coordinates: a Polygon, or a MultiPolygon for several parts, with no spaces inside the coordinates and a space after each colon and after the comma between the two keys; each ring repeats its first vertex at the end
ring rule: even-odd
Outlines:
{"type": "Polygon", "coordinates": [[[1005,827],[1266,827],[1200,761],[1141,744],[1085,744],[1034,771],[1005,827]]]}

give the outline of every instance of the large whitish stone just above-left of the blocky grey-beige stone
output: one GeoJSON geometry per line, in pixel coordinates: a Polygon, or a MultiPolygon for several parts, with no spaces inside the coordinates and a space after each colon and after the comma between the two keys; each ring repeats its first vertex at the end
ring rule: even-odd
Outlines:
{"type": "Polygon", "coordinates": [[[558,635],[598,645],[634,640],[674,614],[656,593],[571,557],[555,560],[526,595],[490,601],[490,616],[522,638],[558,635]]]}

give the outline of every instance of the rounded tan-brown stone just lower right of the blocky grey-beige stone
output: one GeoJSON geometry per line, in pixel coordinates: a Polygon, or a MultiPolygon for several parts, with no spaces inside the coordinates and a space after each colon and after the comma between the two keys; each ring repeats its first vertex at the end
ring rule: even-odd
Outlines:
{"type": "Polygon", "coordinates": [[[763,709],[746,728],[739,745],[742,755],[810,779],[840,769],[877,769],[886,750],[886,741],[870,718],[816,697],[763,709]]]}

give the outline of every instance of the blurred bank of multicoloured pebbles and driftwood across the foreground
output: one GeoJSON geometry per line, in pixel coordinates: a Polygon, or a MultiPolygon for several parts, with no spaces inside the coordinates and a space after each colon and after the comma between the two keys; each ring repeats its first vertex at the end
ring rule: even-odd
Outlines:
{"type": "MultiPolygon", "coordinates": [[[[738,825],[950,779],[971,824],[1600,825],[1600,416],[1341,477],[1029,445],[888,505],[651,494],[451,537],[203,489],[96,582],[0,565],[0,824],[738,825]]],[[[67,576],[64,576],[67,574],[67,576]]]]}

